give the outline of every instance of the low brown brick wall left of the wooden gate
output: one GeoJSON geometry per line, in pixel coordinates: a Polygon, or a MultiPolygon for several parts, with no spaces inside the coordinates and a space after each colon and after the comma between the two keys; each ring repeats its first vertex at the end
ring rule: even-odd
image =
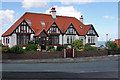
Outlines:
{"type": "Polygon", "coordinates": [[[27,52],[24,54],[3,53],[2,59],[52,59],[63,58],[63,52],[27,52]]]}

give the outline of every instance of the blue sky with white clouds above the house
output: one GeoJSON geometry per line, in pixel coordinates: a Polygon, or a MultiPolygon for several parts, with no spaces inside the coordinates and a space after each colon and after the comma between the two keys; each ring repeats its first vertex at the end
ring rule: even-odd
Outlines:
{"type": "MultiPolygon", "coordinates": [[[[93,24],[99,34],[98,41],[118,38],[118,0],[11,0],[0,6],[0,35],[9,29],[25,12],[50,14],[55,7],[57,15],[76,17],[83,15],[84,24],[93,24]],[[35,2],[36,1],[36,2],[35,2]]],[[[1,37],[0,37],[1,38],[1,37]]]]}

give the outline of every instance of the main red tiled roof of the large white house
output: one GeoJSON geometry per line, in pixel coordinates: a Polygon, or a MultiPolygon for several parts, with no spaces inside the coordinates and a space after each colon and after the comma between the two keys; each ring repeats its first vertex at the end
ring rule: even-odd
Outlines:
{"type": "Polygon", "coordinates": [[[43,28],[41,25],[41,21],[45,22],[46,24],[46,31],[49,29],[49,27],[52,25],[53,22],[55,22],[62,33],[64,33],[69,25],[72,23],[75,29],[77,30],[79,35],[85,35],[90,25],[84,25],[82,22],[80,22],[75,17],[66,17],[66,16],[56,16],[56,19],[53,19],[50,14],[41,14],[41,13],[30,13],[26,12],[20,19],[18,19],[2,36],[10,35],[16,27],[20,24],[23,20],[29,20],[31,21],[32,30],[36,33],[37,36],[43,28]],[[83,29],[80,28],[80,25],[83,27],[83,29]],[[84,30],[85,28],[85,30],[84,30]]]}

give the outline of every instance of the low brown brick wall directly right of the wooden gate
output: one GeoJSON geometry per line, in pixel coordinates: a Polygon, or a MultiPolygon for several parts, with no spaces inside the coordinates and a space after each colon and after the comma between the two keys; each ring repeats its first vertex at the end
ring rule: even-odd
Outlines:
{"type": "Polygon", "coordinates": [[[107,56],[108,51],[75,51],[75,57],[107,56]]]}

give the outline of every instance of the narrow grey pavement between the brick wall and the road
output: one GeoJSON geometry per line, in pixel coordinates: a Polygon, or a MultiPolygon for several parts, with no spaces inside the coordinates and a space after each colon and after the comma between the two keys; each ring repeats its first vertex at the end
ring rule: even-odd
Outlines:
{"type": "Polygon", "coordinates": [[[57,58],[57,59],[23,59],[23,60],[2,60],[2,63],[76,63],[76,62],[96,62],[96,61],[118,61],[120,55],[109,55],[100,57],[84,58],[57,58]]]}

